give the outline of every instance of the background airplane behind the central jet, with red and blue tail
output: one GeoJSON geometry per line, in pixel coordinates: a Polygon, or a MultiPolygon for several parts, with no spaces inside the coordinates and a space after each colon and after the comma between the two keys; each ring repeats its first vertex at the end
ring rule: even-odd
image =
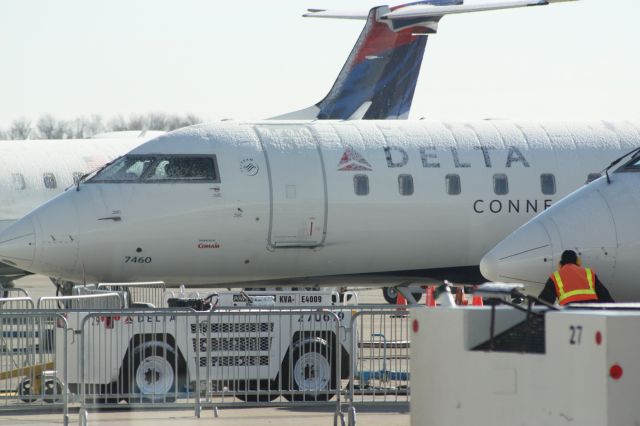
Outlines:
{"type": "MultiPolygon", "coordinates": [[[[460,5],[462,1],[429,0],[419,4],[460,5]]],[[[391,10],[401,11],[403,6],[375,7],[359,18],[366,20],[364,29],[324,99],[273,119],[406,119],[427,36],[419,25],[393,27],[383,21],[383,15],[391,10]]],[[[307,16],[317,14],[310,12],[307,16]]],[[[0,172],[0,182],[5,183],[5,191],[0,192],[0,229],[69,187],[74,177],[99,168],[161,133],[164,132],[125,131],[91,139],[0,141],[5,159],[0,172]]],[[[0,264],[0,288],[10,287],[13,280],[28,274],[0,264]]]]}

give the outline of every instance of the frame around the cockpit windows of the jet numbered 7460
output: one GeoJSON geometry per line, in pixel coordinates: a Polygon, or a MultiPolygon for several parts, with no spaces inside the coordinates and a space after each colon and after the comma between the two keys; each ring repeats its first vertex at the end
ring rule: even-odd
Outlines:
{"type": "MultiPolygon", "coordinates": [[[[136,164],[132,163],[132,166],[136,164]]],[[[169,164],[169,163],[168,163],[169,164]]],[[[168,165],[166,164],[165,167],[168,165]]],[[[131,154],[125,155],[116,160],[110,166],[99,171],[91,179],[87,180],[87,183],[143,183],[143,184],[162,184],[162,183],[220,183],[220,169],[218,167],[218,157],[215,154],[131,154]],[[211,159],[211,165],[213,167],[213,177],[211,178],[194,178],[194,177],[175,177],[175,178],[151,178],[152,173],[155,173],[159,165],[167,160],[172,159],[199,159],[206,158],[211,159]],[[136,162],[145,163],[140,175],[135,179],[101,179],[100,176],[104,171],[108,171],[114,166],[117,166],[123,161],[134,160],[136,162]]]]}

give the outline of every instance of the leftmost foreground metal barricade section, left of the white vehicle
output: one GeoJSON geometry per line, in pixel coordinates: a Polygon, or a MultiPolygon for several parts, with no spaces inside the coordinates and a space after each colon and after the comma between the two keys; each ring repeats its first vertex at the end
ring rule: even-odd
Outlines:
{"type": "Polygon", "coordinates": [[[60,408],[69,424],[67,343],[59,313],[0,311],[0,412],[60,408]]]}

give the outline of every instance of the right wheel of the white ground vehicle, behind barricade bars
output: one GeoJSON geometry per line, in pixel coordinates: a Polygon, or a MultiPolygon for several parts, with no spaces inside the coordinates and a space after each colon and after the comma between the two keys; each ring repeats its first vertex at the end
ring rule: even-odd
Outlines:
{"type": "Polygon", "coordinates": [[[282,387],[304,393],[283,393],[282,396],[288,401],[328,401],[333,398],[337,372],[335,357],[330,353],[327,342],[319,337],[299,342],[293,349],[292,365],[289,366],[288,355],[284,360],[282,387]]]}

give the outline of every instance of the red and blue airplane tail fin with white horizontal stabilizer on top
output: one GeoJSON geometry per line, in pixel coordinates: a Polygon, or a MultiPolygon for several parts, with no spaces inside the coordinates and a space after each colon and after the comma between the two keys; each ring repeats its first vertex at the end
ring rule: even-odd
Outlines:
{"type": "Polygon", "coordinates": [[[347,62],[327,96],[308,108],[274,119],[396,120],[411,110],[429,34],[443,16],[541,6],[573,0],[513,0],[465,5],[463,0],[425,0],[378,6],[368,13],[310,9],[304,16],[366,19],[347,62]]]}

